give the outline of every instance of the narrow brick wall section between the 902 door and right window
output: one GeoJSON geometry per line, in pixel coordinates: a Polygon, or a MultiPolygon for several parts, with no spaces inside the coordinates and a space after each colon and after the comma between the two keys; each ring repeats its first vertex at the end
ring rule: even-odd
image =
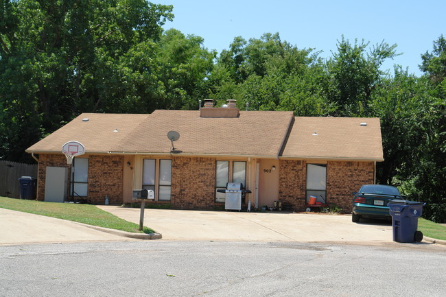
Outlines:
{"type": "Polygon", "coordinates": [[[280,160],[279,200],[292,204],[292,209],[305,209],[305,161],[280,160]]]}

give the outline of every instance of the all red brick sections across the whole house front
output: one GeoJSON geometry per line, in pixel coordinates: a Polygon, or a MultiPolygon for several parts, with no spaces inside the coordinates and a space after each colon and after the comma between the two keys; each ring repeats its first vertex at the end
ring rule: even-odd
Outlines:
{"type": "MultiPolygon", "coordinates": [[[[124,157],[120,155],[90,155],[87,202],[104,204],[122,203],[124,157]]],[[[215,158],[175,156],[172,159],[172,192],[169,203],[174,209],[222,209],[215,202],[215,158]]],[[[279,200],[291,204],[292,209],[305,209],[306,161],[281,160],[279,162],[279,200]]],[[[37,199],[45,198],[46,167],[68,167],[61,154],[40,154],[38,167],[37,199]]],[[[336,204],[344,213],[351,211],[352,192],[361,185],[372,184],[373,162],[327,162],[327,202],[336,204]]],[[[69,191],[69,190],[68,190],[69,191]]]]}

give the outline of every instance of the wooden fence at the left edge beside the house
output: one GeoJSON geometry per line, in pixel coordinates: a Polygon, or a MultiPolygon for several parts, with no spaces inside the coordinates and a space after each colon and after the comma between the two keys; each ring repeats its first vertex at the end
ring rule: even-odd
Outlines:
{"type": "Polygon", "coordinates": [[[19,178],[37,178],[37,164],[24,164],[0,160],[0,196],[19,198],[19,178]]]}

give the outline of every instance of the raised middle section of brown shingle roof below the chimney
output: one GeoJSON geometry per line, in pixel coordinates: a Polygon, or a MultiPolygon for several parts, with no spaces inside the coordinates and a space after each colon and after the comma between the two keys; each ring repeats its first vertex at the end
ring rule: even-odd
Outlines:
{"type": "Polygon", "coordinates": [[[292,112],[240,111],[236,118],[202,118],[198,110],[156,110],[135,128],[113,152],[169,153],[167,132],[180,139],[174,147],[182,154],[226,154],[277,157],[292,112]]]}

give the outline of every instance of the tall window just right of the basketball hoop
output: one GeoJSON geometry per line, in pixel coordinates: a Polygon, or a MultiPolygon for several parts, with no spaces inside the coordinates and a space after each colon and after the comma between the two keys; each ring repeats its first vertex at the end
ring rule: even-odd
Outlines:
{"type": "Polygon", "coordinates": [[[71,197],[86,197],[89,186],[89,158],[73,158],[71,165],[71,197]]]}

